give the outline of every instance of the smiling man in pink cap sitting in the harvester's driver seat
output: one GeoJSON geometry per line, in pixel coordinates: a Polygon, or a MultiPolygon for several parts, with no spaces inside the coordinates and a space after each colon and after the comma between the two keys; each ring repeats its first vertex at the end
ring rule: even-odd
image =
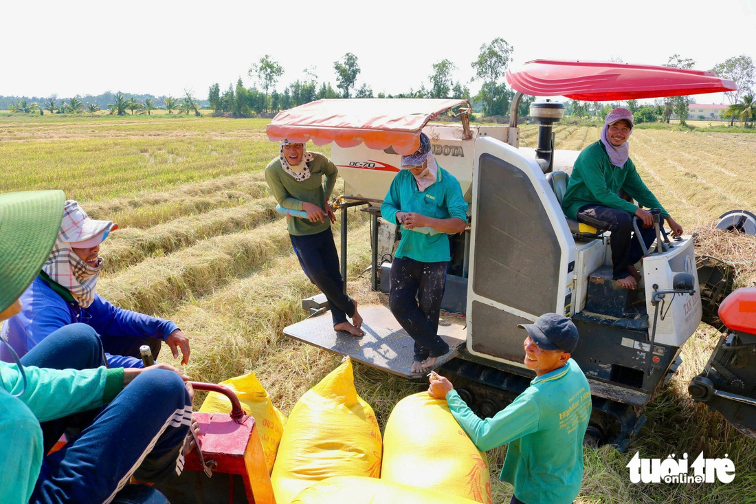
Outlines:
{"type": "Polygon", "coordinates": [[[612,236],[612,268],[614,279],[624,288],[638,286],[640,275],[634,264],[643,257],[637,237],[633,234],[633,217],[643,222],[640,235],[646,247],[653,243],[653,216],[631,201],[618,195],[620,190],[648,208],[661,208],[674,237],[683,228],[664,210],[654,194],[640,179],[630,159],[627,138],[633,132],[633,114],[626,108],[615,108],[606,116],[601,139],[584,148],[575,161],[567,191],[562,200],[565,215],[598,229],[609,229],[612,236]]]}

